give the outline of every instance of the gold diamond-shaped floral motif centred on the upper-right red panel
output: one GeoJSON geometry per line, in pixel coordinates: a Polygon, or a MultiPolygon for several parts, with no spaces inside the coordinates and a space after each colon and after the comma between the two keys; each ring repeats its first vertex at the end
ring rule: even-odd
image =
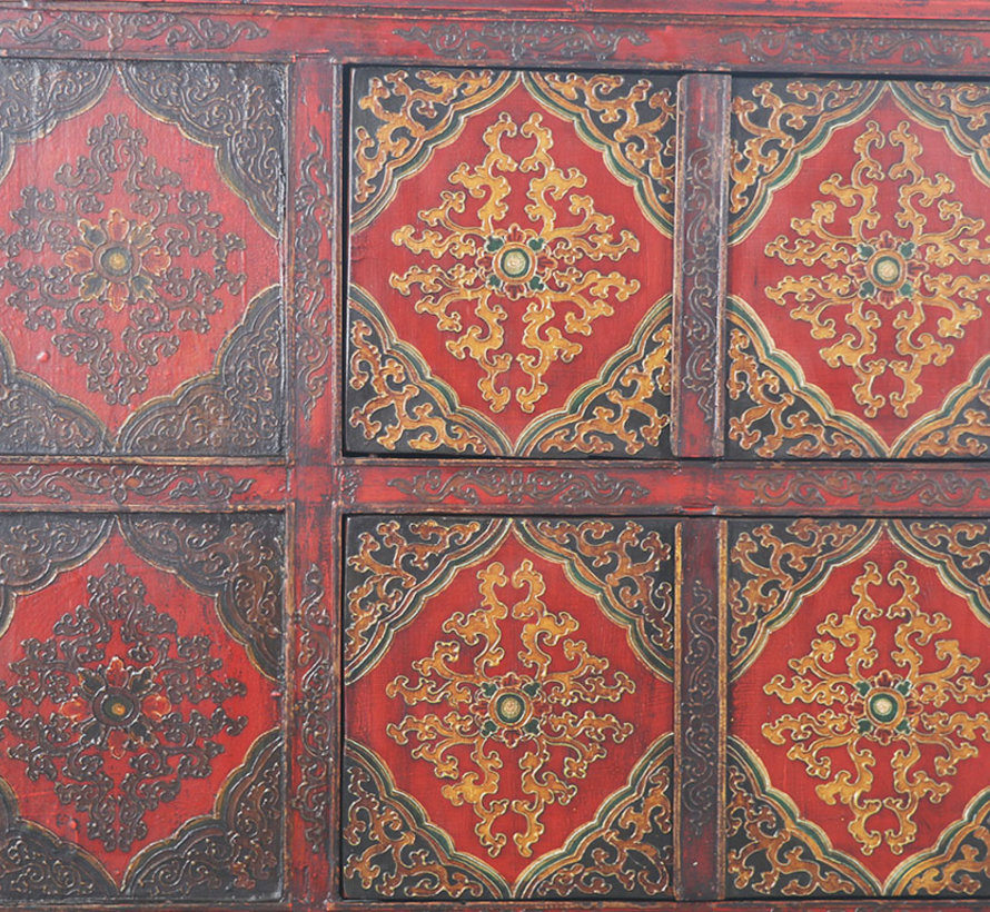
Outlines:
{"type": "Polygon", "coordinates": [[[986,281],[947,270],[990,264],[990,249],[981,246],[986,222],[963,214],[949,177],[924,172],[921,142],[907,121],[889,132],[868,121],[853,149],[859,160],[850,180],[832,175],[822,181],[825,198],[811,217],[793,218],[794,234],[766,246],[768,255],[788,266],[821,264],[831,271],[788,276],[766,295],[792,319],[806,323],[814,339],[834,340],[821,357],[830,367],[853,370],[853,394],[868,417],[888,405],[907,417],[922,393],[922,370],[946,364],[954,351],[947,339],[962,338],[967,325],[982,315],[986,281]],[[875,157],[888,145],[901,149],[900,161],[889,169],[875,157]],[[888,182],[897,187],[897,234],[877,230],[878,201],[888,182]],[[848,231],[833,229],[836,216],[848,218],[848,231]],[[928,329],[931,311],[941,316],[928,329]],[[878,354],[878,331],[885,325],[895,330],[900,357],[878,354]],[[887,396],[874,384],[889,374],[901,388],[887,396]]]}

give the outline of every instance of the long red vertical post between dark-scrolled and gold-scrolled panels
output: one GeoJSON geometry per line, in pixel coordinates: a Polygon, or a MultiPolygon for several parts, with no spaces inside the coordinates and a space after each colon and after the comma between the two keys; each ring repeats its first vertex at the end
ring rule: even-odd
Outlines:
{"type": "Polygon", "coordinates": [[[341,497],[338,297],[343,68],[314,57],[293,66],[288,369],[293,398],[289,522],[293,612],[289,858],[295,902],[324,908],[339,893],[339,599],[341,497]]]}

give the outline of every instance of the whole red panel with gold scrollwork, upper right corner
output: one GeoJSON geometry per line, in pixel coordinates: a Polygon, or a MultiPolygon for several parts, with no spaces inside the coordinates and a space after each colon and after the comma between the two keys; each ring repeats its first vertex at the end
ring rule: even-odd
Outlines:
{"type": "Polygon", "coordinates": [[[729,452],[984,457],[990,86],[734,82],[729,452]]]}

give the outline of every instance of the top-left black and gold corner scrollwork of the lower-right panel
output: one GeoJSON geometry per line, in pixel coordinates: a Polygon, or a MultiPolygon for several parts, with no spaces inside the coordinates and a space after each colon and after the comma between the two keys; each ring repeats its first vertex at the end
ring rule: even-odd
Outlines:
{"type": "Polygon", "coordinates": [[[794,519],[786,525],[739,521],[730,527],[730,672],[739,676],[763,651],[836,561],[863,553],[875,522],[794,519]]]}

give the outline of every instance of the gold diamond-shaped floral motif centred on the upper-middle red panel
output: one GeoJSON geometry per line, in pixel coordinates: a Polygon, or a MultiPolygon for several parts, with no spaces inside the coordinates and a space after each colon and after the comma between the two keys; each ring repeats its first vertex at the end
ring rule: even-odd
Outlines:
{"type": "Polygon", "coordinates": [[[459,165],[449,176],[462,190],[447,190],[439,206],[418,214],[426,227],[406,225],[393,241],[415,255],[455,264],[415,264],[394,272],[392,286],[405,296],[418,294],[415,309],[436,319],[437,329],[454,334],[447,350],[472,358],[484,376],[482,396],[493,412],[502,412],[515,396],[523,412],[533,412],[547,393],[546,371],[557,361],[571,361],[582,351],[574,337],[588,336],[592,325],[614,313],[613,299],[626,300],[640,289],[635,279],[618,272],[603,275],[583,269],[582,259],[617,261],[638,250],[638,240],[623,229],[616,237],[615,219],[598,212],[591,196],[577,192],[587,178],[576,168],[563,170],[551,156],[553,135],[539,113],[522,125],[503,112],[484,133],[488,149],[481,165],[459,165]],[[532,151],[516,160],[503,149],[506,138],[532,141],[532,151]],[[527,224],[507,221],[512,187],[507,175],[529,175],[523,211],[527,224]],[[461,224],[467,197],[482,200],[477,224],[461,224]],[[558,209],[570,218],[561,219],[558,209]],[[415,288],[418,286],[419,291],[415,288]],[[508,307],[525,307],[522,348],[504,350],[508,307]],[[563,328],[553,325],[564,313],[563,328]],[[516,364],[529,378],[512,390],[499,381],[516,364]]]}

